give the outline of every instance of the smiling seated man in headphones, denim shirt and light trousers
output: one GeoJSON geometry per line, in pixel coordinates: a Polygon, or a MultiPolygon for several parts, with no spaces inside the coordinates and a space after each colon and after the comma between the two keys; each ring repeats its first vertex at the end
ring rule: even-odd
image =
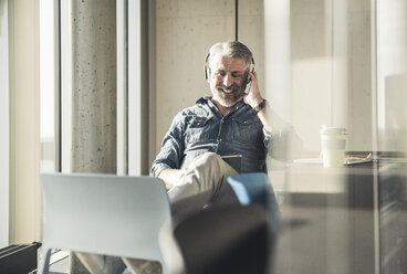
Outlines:
{"type": "Polygon", "coordinates": [[[150,175],[166,183],[175,218],[233,202],[226,179],[236,170],[219,156],[241,155],[242,172],[265,170],[271,127],[253,63],[240,42],[212,45],[206,65],[212,96],[178,113],[164,137],[150,175]]]}

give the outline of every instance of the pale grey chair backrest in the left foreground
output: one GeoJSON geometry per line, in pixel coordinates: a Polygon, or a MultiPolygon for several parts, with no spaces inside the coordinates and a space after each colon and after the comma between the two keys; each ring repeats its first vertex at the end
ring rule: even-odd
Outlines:
{"type": "MultiPolygon", "coordinates": [[[[41,182],[45,212],[44,252],[61,249],[153,260],[160,262],[167,273],[158,235],[170,222],[170,210],[161,180],[44,173],[41,182]]],[[[164,234],[171,233],[168,229],[164,234]]],[[[49,260],[43,256],[42,266],[49,260]]]]}

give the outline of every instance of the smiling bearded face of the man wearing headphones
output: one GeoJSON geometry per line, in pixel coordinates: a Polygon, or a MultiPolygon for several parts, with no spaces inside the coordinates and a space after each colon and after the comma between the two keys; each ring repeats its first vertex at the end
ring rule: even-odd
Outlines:
{"type": "Polygon", "coordinates": [[[209,85],[213,99],[231,107],[244,95],[248,70],[243,59],[217,54],[211,57],[209,85]]]}

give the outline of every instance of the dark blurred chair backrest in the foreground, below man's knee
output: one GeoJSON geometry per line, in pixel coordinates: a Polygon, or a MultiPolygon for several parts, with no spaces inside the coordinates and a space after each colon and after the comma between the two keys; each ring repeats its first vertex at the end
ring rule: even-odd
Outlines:
{"type": "Polygon", "coordinates": [[[212,207],[187,217],[174,234],[188,274],[270,273],[274,239],[260,204],[212,207]]]}

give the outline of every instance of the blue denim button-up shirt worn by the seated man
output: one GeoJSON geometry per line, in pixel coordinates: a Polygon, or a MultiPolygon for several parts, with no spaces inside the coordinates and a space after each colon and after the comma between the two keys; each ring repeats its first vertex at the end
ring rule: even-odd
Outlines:
{"type": "Polygon", "coordinates": [[[264,171],[270,140],[271,133],[263,129],[257,113],[243,101],[222,117],[210,97],[202,97],[175,116],[150,176],[158,176],[167,168],[188,168],[194,159],[208,151],[220,156],[242,155],[241,172],[264,171]]]}

